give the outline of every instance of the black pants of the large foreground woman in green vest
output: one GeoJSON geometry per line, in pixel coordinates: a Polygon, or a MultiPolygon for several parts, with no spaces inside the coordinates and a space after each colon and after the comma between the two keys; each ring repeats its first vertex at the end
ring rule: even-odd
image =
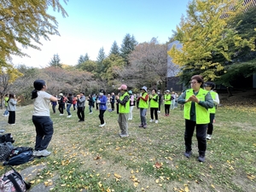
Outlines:
{"type": "Polygon", "coordinates": [[[192,137],[196,127],[196,138],[198,143],[199,154],[205,155],[207,150],[207,125],[208,124],[196,124],[193,120],[185,119],[185,147],[186,151],[191,151],[192,137]]]}

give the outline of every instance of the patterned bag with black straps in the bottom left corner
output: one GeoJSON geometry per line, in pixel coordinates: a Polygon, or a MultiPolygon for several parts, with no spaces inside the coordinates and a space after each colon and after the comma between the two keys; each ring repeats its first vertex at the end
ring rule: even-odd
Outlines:
{"type": "Polygon", "coordinates": [[[15,168],[12,166],[9,167],[11,167],[12,170],[7,172],[6,168],[4,174],[0,177],[0,192],[24,192],[30,189],[31,184],[26,183],[20,173],[15,171],[15,168]]]}

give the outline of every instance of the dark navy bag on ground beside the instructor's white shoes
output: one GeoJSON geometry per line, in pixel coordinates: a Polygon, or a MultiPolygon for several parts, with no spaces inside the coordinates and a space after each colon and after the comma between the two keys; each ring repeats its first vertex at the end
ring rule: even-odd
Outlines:
{"type": "Polygon", "coordinates": [[[13,154],[13,156],[11,156],[9,158],[9,160],[6,160],[3,162],[3,166],[5,165],[9,165],[9,166],[19,166],[21,164],[24,164],[30,160],[33,160],[33,157],[32,157],[32,154],[33,154],[33,151],[32,151],[32,148],[27,148],[27,150],[23,150],[22,149],[25,149],[26,147],[19,147],[20,148],[20,153],[19,153],[19,150],[17,148],[13,149],[13,151],[16,153],[13,154]],[[17,152],[18,151],[18,152],[17,152]]]}

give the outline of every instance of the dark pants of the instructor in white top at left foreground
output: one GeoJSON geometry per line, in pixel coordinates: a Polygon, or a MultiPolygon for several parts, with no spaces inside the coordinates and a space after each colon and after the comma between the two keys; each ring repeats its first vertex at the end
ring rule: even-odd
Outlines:
{"type": "Polygon", "coordinates": [[[49,116],[32,116],[32,122],[36,126],[35,150],[44,150],[48,147],[54,133],[53,122],[49,116]]]}

